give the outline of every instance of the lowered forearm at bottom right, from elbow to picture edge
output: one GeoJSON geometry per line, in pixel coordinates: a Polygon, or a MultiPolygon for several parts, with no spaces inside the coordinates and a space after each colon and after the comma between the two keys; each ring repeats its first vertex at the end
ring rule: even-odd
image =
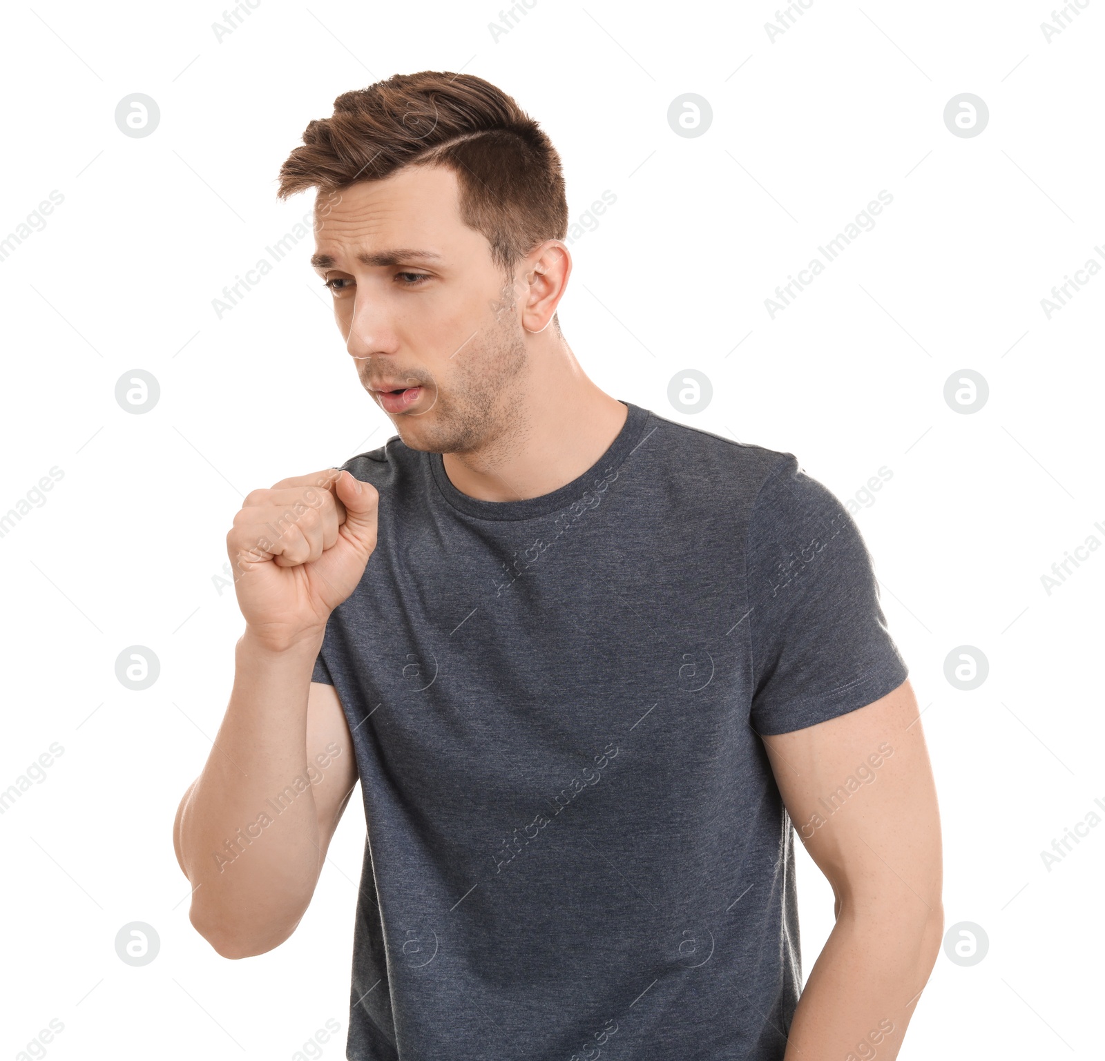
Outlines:
{"type": "Polygon", "coordinates": [[[798,1001],[785,1061],[894,1061],[943,924],[939,909],[842,911],[798,1001]]]}

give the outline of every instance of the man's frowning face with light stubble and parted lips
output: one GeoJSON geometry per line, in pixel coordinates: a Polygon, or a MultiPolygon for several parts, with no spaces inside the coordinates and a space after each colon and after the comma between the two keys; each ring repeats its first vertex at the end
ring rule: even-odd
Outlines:
{"type": "Polygon", "coordinates": [[[455,174],[413,167],[322,192],[315,220],[312,265],[402,441],[464,453],[517,431],[527,361],[515,287],[461,221],[455,174]]]}

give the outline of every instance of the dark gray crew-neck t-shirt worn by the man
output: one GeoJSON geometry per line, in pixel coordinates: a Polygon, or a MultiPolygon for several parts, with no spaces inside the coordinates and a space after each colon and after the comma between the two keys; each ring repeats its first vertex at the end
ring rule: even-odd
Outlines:
{"type": "Polygon", "coordinates": [[[367,841],[351,1061],[778,1061],[794,835],[757,734],[907,670],[871,558],[789,453],[630,402],[541,497],[398,436],[347,460],[379,539],[330,616],[367,841]]]}

